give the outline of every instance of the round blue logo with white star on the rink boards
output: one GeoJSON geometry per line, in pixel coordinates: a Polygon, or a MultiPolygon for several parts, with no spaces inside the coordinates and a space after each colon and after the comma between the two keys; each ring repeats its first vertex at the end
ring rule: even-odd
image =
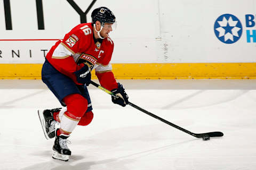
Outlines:
{"type": "Polygon", "coordinates": [[[214,32],[222,43],[233,44],[241,38],[243,27],[235,15],[223,14],[215,21],[214,32]]]}

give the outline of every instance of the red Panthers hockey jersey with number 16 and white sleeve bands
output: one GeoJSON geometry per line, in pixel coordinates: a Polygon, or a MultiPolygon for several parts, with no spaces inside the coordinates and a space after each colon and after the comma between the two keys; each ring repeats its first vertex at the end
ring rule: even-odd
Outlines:
{"type": "Polygon", "coordinates": [[[91,23],[82,23],[59,40],[46,55],[55,69],[67,75],[77,84],[75,71],[87,64],[91,70],[95,69],[101,86],[112,90],[117,88],[114,74],[111,72],[111,56],[114,49],[113,41],[107,37],[101,43],[94,42],[91,23]]]}

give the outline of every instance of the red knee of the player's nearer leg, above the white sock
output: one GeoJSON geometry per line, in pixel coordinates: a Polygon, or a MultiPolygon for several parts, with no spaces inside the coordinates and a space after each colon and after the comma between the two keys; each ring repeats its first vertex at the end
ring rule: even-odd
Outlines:
{"type": "Polygon", "coordinates": [[[67,113],[65,113],[66,115],[72,114],[75,117],[82,117],[87,110],[88,102],[87,99],[85,99],[82,95],[68,95],[63,99],[63,101],[67,105],[67,113]]]}

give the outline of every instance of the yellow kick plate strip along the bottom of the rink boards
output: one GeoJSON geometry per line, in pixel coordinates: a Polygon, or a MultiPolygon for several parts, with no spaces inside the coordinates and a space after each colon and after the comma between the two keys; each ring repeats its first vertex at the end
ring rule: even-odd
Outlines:
{"type": "MultiPolygon", "coordinates": [[[[112,64],[116,79],[256,79],[256,63],[112,64]]],[[[0,64],[1,79],[41,79],[42,64],[0,64]]],[[[94,71],[92,79],[95,79],[94,71]]]]}

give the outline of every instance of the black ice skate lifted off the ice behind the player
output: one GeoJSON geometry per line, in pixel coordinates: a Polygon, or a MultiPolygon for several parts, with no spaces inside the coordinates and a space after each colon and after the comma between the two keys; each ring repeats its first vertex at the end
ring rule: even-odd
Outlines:
{"type": "Polygon", "coordinates": [[[59,112],[60,109],[61,108],[54,108],[51,110],[47,109],[44,111],[37,111],[46,139],[51,139],[55,137],[55,124],[59,122],[54,120],[53,113],[59,112]]]}

